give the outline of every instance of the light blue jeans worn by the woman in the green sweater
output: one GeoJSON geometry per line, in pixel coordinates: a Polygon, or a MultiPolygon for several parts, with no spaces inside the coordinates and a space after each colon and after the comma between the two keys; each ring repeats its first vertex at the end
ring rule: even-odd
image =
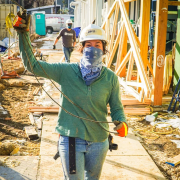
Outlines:
{"type": "Polygon", "coordinates": [[[59,154],[65,180],[98,180],[109,149],[108,138],[104,142],[76,139],[76,174],[69,174],[69,137],[60,136],[59,154]]]}

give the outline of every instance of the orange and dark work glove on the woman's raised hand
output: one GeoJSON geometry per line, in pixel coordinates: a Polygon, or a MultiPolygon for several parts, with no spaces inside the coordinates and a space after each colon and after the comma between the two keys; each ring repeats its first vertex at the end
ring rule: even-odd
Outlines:
{"type": "Polygon", "coordinates": [[[13,28],[17,32],[25,32],[29,31],[29,25],[30,25],[31,15],[27,15],[26,9],[22,11],[22,13],[19,11],[17,13],[17,16],[14,18],[13,21],[13,28]]]}

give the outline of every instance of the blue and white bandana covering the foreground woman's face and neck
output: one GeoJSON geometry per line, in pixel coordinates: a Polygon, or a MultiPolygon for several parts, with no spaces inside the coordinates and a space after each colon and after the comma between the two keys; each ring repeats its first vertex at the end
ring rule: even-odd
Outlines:
{"type": "Polygon", "coordinates": [[[101,74],[103,51],[95,47],[86,47],[80,61],[82,77],[87,86],[94,82],[101,74]]]}

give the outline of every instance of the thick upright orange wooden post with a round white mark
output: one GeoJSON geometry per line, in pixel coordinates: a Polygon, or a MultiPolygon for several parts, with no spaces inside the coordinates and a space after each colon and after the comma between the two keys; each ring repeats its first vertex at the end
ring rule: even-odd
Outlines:
{"type": "Polygon", "coordinates": [[[162,105],[163,71],[166,50],[168,0],[156,2],[156,30],[154,46],[154,105],[162,105]]]}

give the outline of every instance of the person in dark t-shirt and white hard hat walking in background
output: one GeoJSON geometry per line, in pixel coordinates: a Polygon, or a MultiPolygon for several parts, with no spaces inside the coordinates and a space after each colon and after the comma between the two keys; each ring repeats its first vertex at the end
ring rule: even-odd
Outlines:
{"type": "Polygon", "coordinates": [[[56,49],[56,44],[61,37],[65,62],[70,63],[71,53],[73,52],[76,45],[76,32],[72,29],[71,19],[66,21],[66,28],[60,31],[54,42],[53,49],[56,49]]]}

